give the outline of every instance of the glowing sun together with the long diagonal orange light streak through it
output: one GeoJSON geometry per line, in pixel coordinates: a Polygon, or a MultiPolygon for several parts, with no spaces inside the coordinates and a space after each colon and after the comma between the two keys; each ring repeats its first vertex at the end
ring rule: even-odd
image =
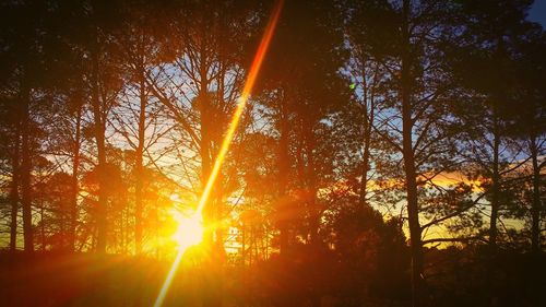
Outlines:
{"type": "Polygon", "coordinates": [[[242,88],[241,96],[239,97],[237,107],[233,115],[232,121],[229,122],[229,127],[227,128],[226,134],[222,142],[222,146],[219,149],[218,155],[214,161],[214,166],[212,168],[211,175],[209,176],[209,180],[206,181],[203,193],[201,194],[201,199],[199,200],[198,209],[195,213],[190,219],[182,219],[179,224],[179,228],[177,232],[177,241],[180,244],[178,253],[170,267],[170,270],[167,274],[167,279],[165,280],[159,295],[155,300],[154,307],[159,307],[165,300],[165,296],[167,295],[168,288],[173,282],[173,279],[178,270],[180,261],[182,260],[183,253],[186,250],[192,245],[199,244],[202,240],[203,236],[203,225],[202,225],[202,212],[205,206],[205,203],[211,194],[212,188],[218,176],[219,169],[222,167],[222,163],[227,154],[227,150],[232,143],[235,131],[239,125],[240,117],[242,111],[245,110],[245,106],[247,105],[247,101],[250,96],[252,87],[254,86],[256,79],[258,76],[258,72],[263,62],[263,58],[265,56],[265,51],[270,45],[271,38],[273,37],[273,32],[275,31],[276,23],[278,21],[278,16],[281,15],[281,9],[283,7],[284,0],[278,0],[275,3],[273,12],[268,22],[268,26],[265,27],[265,32],[263,33],[262,40],[260,42],[260,46],[258,47],[258,51],[252,61],[252,66],[250,67],[249,73],[247,75],[247,81],[245,83],[245,87],[242,88]]]}

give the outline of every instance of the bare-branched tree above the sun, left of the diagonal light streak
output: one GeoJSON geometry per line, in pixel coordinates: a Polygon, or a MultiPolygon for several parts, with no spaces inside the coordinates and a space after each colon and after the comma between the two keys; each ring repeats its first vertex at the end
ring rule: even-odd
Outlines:
{"type": "MultiPolygon", "coordinates": [[[[193,155],[198,156],[200,170],[190,172],[187,180],[197,177],[204,187],[242,90],[246,51],[242,47],[249,39],[244,34],[253,33],[256,21],[250,17],[254,11],[249,3],[205,1],[200,5],[174,9],[174,35],[161,51],[163,62],[146,82],[153,96],[178,125],[175,131],[180,132],[177,139],[181,141],[176,144],[187,153],[176,157],[189,166],[181,174],[195,166],[193,155]]],[[[221,175],[217,187],[226,186],[222,184],[225,179],[221,175]]],[[[212,193],[203,212],[205,224],[214,225],[224,214],[225,197],[222,189],[212,193]]],[[[221,253],[222,231],[216,228],[206,235],[211,245],[216,233],[214,245],[221,253]]]]}

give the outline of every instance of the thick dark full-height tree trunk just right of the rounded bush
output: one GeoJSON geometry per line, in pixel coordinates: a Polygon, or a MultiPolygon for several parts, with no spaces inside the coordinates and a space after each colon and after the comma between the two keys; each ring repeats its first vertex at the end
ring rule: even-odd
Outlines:
{"type": "Polygon", "coordinates": [[[415,169],[415,157],[413,149],[413,119],[412,119],[412,82],[410,59],[410,0],[403,2],[403,54],[402,54],[402,147],[404,157],[404,170],[406,178],[407,217],[410,224],[410,239],[412,253],[412,303],[414,307],[425,306],[425,285],[423,279],[423,247],[422,228],[419,225],[419,208],[417,200],[417,174],[415,169]]]}

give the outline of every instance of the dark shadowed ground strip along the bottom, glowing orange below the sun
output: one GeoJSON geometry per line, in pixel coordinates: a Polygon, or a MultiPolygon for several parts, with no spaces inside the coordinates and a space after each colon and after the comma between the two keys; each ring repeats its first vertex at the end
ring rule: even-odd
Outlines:
{"type": "MultiPolygon", "coordinates": [[[[438,264],[427,280],[435,307],[546,306],[544,255],[502,252],[487,269],[488,262],[468,252],[430,252],[429,262],[438,264]]],[[[185,259],[164,306],[213,306],[212,298],[225,307],[411,305],[407,274],[388,268],[355,274],[328,253],[301,250],[250,269],[195,259],[185,259]]],[[[0,252],[0,306],[152,306],[169,265],[121,256],[0,252]]]]}

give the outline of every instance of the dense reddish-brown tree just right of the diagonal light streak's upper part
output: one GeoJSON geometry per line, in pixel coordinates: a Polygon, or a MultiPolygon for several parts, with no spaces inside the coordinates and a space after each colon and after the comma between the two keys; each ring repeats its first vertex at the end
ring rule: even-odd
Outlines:
{"type": "Polygon", "coordinates": [[[330,127],[324,121],[348,96],[346,81],[337,73],[346,59],[342,25],[334,1],[286,3],[261,72],[262,102],[278,135],[277,222],[282,253],[290,241],[290,212],[298,211],[289,208],[295,204],[287,199],[297,188],[305,191],[298,200],[307,216],[307,231],[301,235],[320,245],[323,209],[317,199],[318,190],[332,168],[327,144],[330,127]],[[320,33],[320,38],[314,33],[320,33]],[[292,181],[292,176],[297,179],[292,181]]]}

